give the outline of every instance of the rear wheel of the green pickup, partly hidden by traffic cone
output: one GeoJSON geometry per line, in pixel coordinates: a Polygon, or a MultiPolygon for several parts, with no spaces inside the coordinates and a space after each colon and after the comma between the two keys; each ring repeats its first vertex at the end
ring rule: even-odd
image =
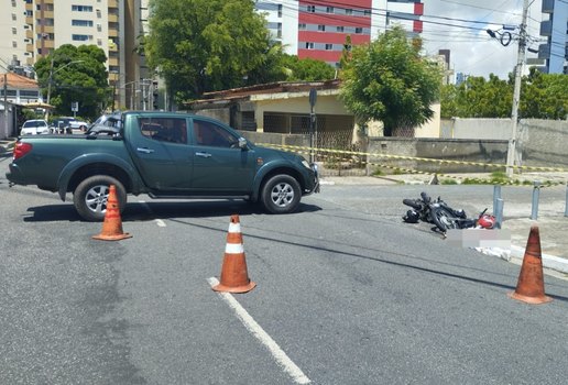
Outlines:
{"type": "Polygon", "coordinates": [[[127,191],[122,184],[107,175],[95,175],[83,180],[73,193],[73,204],[79,216],[89,222],[100,222],[107,212],[110,185],[117,189],[119,210],[127,206],[127,191]]]}

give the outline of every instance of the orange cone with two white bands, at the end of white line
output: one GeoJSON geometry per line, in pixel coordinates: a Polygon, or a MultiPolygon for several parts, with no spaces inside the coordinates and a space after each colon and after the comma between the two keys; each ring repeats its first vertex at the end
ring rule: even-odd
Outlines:
{"type": "Polygon", "coordinates": [[[247,293],[252,290],[254,286],[256,284],[249,279],[249,273],[247,272],[239,216],[233,215],[227,234],[221,279],[219,285],[214,286],[212,289],[215,292],[247,293]]]}

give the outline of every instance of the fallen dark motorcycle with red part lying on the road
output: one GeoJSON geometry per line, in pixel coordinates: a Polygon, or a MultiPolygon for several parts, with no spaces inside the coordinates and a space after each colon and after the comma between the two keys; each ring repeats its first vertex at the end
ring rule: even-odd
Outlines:
{"type": "Polygon", "coordinates": [[[426,193],[420,193],[419,199],[403,199],[403,204],[412,207],[406,211],[403,220],[408,223],[425,221],[436,226],[436,229],[445,233],[449,229],[493,229],[495,217],[485,213],[484,209],[478,218],[467,218],[466,211],[455,210],[449,207],[440,197],[432,199],[426,193]]]}

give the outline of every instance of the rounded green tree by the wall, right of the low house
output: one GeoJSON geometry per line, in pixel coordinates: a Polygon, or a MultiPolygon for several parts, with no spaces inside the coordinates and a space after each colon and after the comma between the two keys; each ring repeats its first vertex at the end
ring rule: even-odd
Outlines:
{"type": "Polygon", "coordinates": [[[438,100],[441,73],[396,26],[353,47],[341,79],[341,99],[357,121],[382,121],[384,135],[391,136],[396,128],[415,127],[434,116],[430,106],[438,100]]]}

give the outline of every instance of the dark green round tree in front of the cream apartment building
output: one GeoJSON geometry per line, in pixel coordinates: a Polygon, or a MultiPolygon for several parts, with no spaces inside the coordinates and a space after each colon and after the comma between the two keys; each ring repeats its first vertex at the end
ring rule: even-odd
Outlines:
{"type": "Polygon", "coordinates": [[[45,98],[51,80],[50,103],[55,106],[53,113],[73,114],[70,106],[77,101],[80,117],[96,119],[100,116],[112,98],[106,62],[105,52],[96,45],[64,44],[40,58],[35,73],[45,98]]]}

